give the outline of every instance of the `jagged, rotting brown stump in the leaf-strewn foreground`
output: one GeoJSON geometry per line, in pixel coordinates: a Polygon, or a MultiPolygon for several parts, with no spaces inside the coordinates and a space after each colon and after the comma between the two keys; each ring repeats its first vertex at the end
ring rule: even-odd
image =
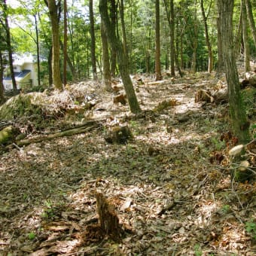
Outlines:
{"type": "Polygon", "coordinates": [[[115,242],[120,242],[123,230],[119,224],[119,219],[114,206],[101,194],[96,194],[97,211],[99,214],[99,227],[105,236],[109,236],[115,242]]]}

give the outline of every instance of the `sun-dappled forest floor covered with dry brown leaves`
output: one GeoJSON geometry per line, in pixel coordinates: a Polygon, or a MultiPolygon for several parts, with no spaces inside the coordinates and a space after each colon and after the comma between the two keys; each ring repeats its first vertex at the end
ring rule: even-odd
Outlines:
{"type": "Polygon", "coordinates": [[[78,94],[94,99],[85,114],[23,123],[33,139],[97,121],[81,134],[2,152],[1,255],[256,254],[256,183],[230,182],[227,104],[194,100],[198,90],[224,87],[224,78],[142,81],[134,80],[142,114],[87,81],[55,95],[60,105],[72,99],[79,106],[78,94]],[[128,125],[133,139],[106,142],[117,125],[128,125]],[[118,242],[93,233],[97,193],[114,206],[123,229],[118,242]]]}

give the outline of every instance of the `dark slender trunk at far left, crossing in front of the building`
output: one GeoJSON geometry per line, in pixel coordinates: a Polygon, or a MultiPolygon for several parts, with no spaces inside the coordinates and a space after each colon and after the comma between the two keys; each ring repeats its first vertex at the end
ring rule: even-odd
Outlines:
{"type": "Polygon", "coordinates": [[[17,84],[15,81],[15,75],[14,75],[13,50],[11,47],[11,33],[10,33],[10,27],[8,23],[8,10],[6,5],[6,0],[3,0],[3,8],[4,8],[4,16],[5,16],[6,44],[8,47],[8,58],[9,58],[9,65],[10,65],[10,72],[11,72],[11,81],[13,84],[13,89],[17,90],[17,84]]]}

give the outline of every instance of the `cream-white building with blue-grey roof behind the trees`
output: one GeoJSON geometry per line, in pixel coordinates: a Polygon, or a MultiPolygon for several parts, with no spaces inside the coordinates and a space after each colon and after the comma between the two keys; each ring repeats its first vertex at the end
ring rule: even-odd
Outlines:
{"type": "MultiPolygon", "coordinates": [[[[32,55],[14,55],[14,75],[17,89],[28,89],[38,86],[38,66],[37,60],[32,55]]],[[[5,90],[13,90],[11,75],[4,78],[5,90]]]]}

